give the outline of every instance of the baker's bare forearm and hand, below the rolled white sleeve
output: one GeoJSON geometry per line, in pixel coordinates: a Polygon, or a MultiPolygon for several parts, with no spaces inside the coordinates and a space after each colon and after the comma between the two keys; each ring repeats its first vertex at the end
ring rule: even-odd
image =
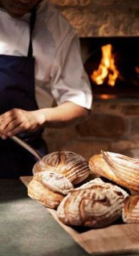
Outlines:
{"type": "Polygon", "coordinates": [[[13,136],[25,130],[34,132],[40,127],[71,126],[86,119],[89,114],[90,110],[69,101],[54,108],[35,111],[14,108],[0,116],[0,136],[6,139],[7,136],[13,136]]]}

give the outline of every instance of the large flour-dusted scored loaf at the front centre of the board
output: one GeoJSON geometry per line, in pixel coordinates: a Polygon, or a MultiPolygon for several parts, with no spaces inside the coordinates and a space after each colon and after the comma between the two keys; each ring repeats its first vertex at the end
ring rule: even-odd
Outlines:
{"type": "Polygon", "coordinates": [[[121,217],[128,194],[99,178],[71,191],[58,206],[57,215],[66,225],[102,228],[121,217]]]}

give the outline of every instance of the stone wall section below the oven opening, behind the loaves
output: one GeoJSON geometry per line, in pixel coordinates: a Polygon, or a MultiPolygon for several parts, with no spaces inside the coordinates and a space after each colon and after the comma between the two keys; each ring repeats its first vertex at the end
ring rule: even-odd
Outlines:
{"type": "Polygon", "coordinates": [[[91,117],[75,127],[45,130],[49,152],[73,151],[87,160],[104,151],[139,158],[139,103],[94,101],[91,117]]]}

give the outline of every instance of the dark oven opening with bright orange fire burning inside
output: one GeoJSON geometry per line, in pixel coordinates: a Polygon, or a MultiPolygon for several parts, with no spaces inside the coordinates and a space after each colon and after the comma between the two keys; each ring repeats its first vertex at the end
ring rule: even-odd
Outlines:
{"type": "Polygon", "coordinates": [[[139,98],[139,37],[80,41],[94,98],[139,98]]]}

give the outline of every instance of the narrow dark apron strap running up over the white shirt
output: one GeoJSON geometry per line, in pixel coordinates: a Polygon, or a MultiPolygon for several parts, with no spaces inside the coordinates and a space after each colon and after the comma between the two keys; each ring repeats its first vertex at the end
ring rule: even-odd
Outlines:
{"type": "Polygon", "coordinates": [[[28,57],[33,56],[33,48],[32,48],[32,31],[34,29],[35,21],[36,21],[36,7],[32,9],[31,18],[30,18],[30,33],[29,33],[29,47],[28,47],[28,57]]]}

